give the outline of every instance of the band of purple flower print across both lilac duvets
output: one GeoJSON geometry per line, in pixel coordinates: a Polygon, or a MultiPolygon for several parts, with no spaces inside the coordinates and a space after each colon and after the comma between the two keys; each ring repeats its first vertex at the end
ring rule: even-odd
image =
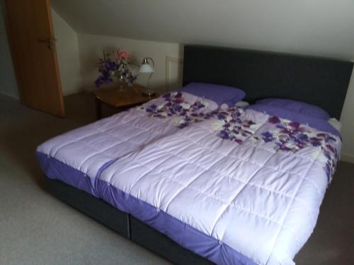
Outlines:
{"type": "Polygon", "coordinates": [[[158,118],[181,117],[181,122],[178,124],[178,128],[181,129],[191,123],[216,117],[222,122],[222,128],[217,132],[217,136],[237,144],[241,144],[245,139],[252,137],[256,141],[274,143],[275,151],[296,153],[302,148],[309,146],[321,148],[322,155],[326,159],[324,171],[326,172],[328,183],[331,182],[339,158],[335,147],[337,139],[331,134],[318,133],[308,126],[302,126],[298,122],[273,116],[268,118],[268,124],[271,124],[272,127],[268,131],[254,135],[256,129],[262,124],[256,124],[250,119],[244,119],[242,117],[244,109],[240,107],[230,107],[228,110],[203,113],[200,112],[205,107],[202,102],[195,101],[193,104],[185,102],[181,92],[166,93],[163,97],[165,99],[164,105],[159,107],[152,104],[145,109],[146,112],[149,112],[148,116],[158,118]]]}

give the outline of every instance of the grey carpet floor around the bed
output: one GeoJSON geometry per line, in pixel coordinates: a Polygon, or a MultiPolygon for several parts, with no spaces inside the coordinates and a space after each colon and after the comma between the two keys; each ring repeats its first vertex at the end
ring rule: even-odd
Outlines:
{"type": "MultiPolygon", "coordinates": [[[[96,118],[91,95],[65,105],[62,119],[0,94],[0,264],[169,264],[45,192],[36,146],[96,118]]],[[[353,172],[339,164],[297,264],[354,264],[353,172]]]]}

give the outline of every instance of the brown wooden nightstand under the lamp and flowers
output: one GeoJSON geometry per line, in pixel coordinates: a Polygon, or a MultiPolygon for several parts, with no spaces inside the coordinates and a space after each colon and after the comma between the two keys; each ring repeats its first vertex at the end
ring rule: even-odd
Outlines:
{"type": "Polygon", "coordinates": [[[138,84],[133,86],[123,85],[123,90],[120,90],[119,86],[96,88],[92,93],[96,96],[97,119],[102,117],[102,103],[126,110],[129,107],[142,104],[159,96],[158,93],[153,97],[144,96],[142,95],[144,90],[147,90],[147,88],[138,84]]]}

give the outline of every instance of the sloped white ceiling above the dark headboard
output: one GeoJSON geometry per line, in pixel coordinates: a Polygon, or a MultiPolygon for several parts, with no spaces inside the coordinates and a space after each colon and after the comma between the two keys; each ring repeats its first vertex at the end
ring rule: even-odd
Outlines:
{"type": "Polygon", "coordinates": [[[354,59],[353,0],[52,0],[77,33],[354,59]]]}

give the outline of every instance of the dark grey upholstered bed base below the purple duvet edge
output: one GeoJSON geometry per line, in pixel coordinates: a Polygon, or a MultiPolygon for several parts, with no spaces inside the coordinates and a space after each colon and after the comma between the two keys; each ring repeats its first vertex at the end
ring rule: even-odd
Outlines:
{"type": "Polygon", "coordinates": [[[181,265],[210,265],[211,261],[190,252],[173,242],[169,237],[142,223],[137,218],[114,208],[105,201],[75,189],[57,179],[45,177],[45,186],[50,194],[64,201],[111,230],[149,249],[159,256],[181,265]]]}

